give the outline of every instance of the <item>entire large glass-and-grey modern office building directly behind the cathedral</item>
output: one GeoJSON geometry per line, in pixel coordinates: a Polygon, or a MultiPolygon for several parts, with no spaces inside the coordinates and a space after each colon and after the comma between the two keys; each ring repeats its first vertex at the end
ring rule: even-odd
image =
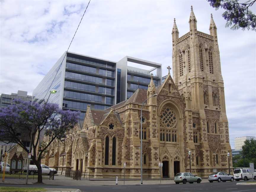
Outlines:
{"type": "Polygon", "coordinates": [[[147,89],[153,70],[157,74],[153,77],[155,83],[161,84],[161,64],[128,56],[114,62],[67,52],[34,89],[33,100],[49,97],[48,102],[57,103],[63,109],[81,111],[80,119],[83,120],[88,105],[105,109],[126,100],[127,92],[133,93],[143,86],[147,89]],[[127,62],[154,68],[149,71],[132,68],[127,62]],[[50,95],[51,89],[56,89],[57,93],[50,95]]]}

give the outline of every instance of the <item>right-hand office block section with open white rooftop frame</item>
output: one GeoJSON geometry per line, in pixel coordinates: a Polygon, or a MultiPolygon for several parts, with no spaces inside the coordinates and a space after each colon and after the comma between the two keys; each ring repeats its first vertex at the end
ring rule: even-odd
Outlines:
{"type": "MultiPolygon", "coordinates": [[[[134,57],[126,56],[116,63],[121,69],[121,101],[127,100],[137,89],[148,89],[148,84],[153,74],[153,81],[156,86],[161,84],[162,65],[134,57]],[[149,70],[128,66],[128,62],[152,67],[149,70]]],[[[117,102],[118,103],[118,102],[117,102]]]]}

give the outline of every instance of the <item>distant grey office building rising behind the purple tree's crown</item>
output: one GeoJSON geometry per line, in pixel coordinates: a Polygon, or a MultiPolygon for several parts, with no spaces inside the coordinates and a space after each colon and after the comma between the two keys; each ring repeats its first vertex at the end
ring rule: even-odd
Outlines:
{"type": "Polygon", "coordinates": [[[15,99],[21,99],[23,101],[30,101],[32,100],[32,96],[28,95],[27,91],[18,91],[17,93],[2,94],[0,97],[0,108],[7,107],[8,105],[12,105],[15,99]]]}

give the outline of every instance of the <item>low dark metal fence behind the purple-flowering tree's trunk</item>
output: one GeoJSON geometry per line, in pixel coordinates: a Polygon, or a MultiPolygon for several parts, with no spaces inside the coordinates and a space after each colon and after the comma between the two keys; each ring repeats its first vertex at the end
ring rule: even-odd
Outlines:
{"type": "MultiPolygon", "coordinates": [[[[6,172],[4,174],[5,179],[26,179],[27,173],[26,171],[23,170],[11,170],[10,172],[6,172]]],[[[31,174],[29,173],[28,179],[37,179],[38,174],[34,173],[31,174]]],[[[3,178],[3,172],[0,172],[0,178],[3,178]]],[[[54,171],[50,172],[42,172],[42,178],[43,179],[48,179],[48,180],[54,180],[54,171]]]]}

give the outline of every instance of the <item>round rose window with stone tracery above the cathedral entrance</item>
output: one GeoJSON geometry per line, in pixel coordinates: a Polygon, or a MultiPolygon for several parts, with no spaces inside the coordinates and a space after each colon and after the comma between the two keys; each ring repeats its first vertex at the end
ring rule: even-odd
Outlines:
{"type": "Polygon", "coordinates": [[[161,123],[167,128],[174,127],[177,123],[174,111],[168,106],[162,109],[160,119],[161,123]]]}

